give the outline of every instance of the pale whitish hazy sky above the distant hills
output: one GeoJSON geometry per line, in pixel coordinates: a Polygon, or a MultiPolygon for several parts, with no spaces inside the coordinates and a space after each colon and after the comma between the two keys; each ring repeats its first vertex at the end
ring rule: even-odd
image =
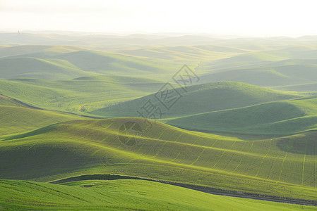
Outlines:
{"type": "Polygon", "coordinates": [[[0,0],[0,30],[317,34],[317,1],[0,0]]]}

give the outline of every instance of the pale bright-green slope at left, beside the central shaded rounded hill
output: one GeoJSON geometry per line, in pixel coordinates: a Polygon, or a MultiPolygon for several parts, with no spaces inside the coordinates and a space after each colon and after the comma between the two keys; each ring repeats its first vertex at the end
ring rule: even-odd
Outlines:
{"type": "Polygon", "coordinates": [[[120,76],[57,81],[0,79],[0,93],[40,108],[83,113],[151,94],[163,84],[155,79],[120,76]]]}

